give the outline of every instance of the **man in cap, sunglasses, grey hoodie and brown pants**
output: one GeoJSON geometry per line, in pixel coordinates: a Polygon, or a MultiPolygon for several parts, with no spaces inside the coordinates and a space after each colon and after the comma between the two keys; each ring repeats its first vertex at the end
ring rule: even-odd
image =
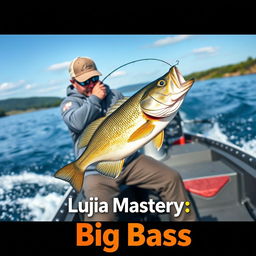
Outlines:
{"type": "MultiPolygon", "coordinates": [[[[124,96],[117,90],[99,80],[102,74],[95,62],[88,57],[77,57],[69,65],[71,84],[67,87],[67,97],[61,103],[61,113],[68,126],[74,142],[76,158],[85,148],[78,149],[79,136],[94,120],[103,117],[108,109],[124,96]]],[[[84,177],[83,193],[85,200],[97,197],[99,202],[107,202],[112,209],[113,197],[120,193],[120,185],[136,185],[142,189],[154,190],[164,202],[189,201],[180,175],[173,169],[152,157],[139,152],[129,156],[124,163],[120,176],[116,179],[99,174],[95,165],[90,165],[84,177]]],[[[196,215],[191,208],[190,213],[182,213],[173,217],[173,221],[194,221],[196,215]]],[[[115,221],[116,214],[95,213],[91,218],[84,215],[85,221],[115,221]]]]}

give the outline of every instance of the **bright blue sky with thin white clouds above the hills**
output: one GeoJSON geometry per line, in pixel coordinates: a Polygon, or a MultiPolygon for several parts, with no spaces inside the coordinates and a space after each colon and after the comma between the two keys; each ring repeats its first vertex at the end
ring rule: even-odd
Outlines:
{"type": "MultiPolygon", "coordinates": [[[[68,66],[92,58],[102,73],[141,58],[175,64],[183,75],[256,57],[256,35],[0,35],[0,100],[66,96],[68,66]]],[[[120,68],[104,83],[111,88],[153,81],[169,66],[143,61],[120,68]]]]}

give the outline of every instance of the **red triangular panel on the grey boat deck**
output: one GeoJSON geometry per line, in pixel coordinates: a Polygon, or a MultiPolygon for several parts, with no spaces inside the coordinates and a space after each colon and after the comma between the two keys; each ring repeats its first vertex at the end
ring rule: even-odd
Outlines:
{"type": "Polygon", "coordinates": [[[185,188],[193,194],[203,197],[213,197],[225,186],[229,180],[229,176],[217,176],[185,180],[184,185],[185,188]]]}

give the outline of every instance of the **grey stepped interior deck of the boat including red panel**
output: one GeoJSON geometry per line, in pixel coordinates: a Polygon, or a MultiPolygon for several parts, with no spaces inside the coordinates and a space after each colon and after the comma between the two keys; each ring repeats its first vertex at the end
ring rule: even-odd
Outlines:
{"type": "Polygon", "coordinates": [[[241,203],[242,184],[239,183],[241,174],[238,168],[200,143],[172,146],[168,154],[164,163],[180,173],[190,191],[191,201],[199,209],[200,220],[252,220],[241,203]],[[217,187],[211,195],[215,189],[212,184],[217,187]]]}

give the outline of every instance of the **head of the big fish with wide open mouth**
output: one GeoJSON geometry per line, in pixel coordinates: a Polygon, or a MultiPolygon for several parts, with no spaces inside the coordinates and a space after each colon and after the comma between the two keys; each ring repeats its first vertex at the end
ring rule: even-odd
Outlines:
{"type": "Polygon", "coordinates": [[[176,66],[148,85],[140,101],[144,114],[154,118],[166,118],[176,113],[194,79],[185,81],[176,66]]]}

